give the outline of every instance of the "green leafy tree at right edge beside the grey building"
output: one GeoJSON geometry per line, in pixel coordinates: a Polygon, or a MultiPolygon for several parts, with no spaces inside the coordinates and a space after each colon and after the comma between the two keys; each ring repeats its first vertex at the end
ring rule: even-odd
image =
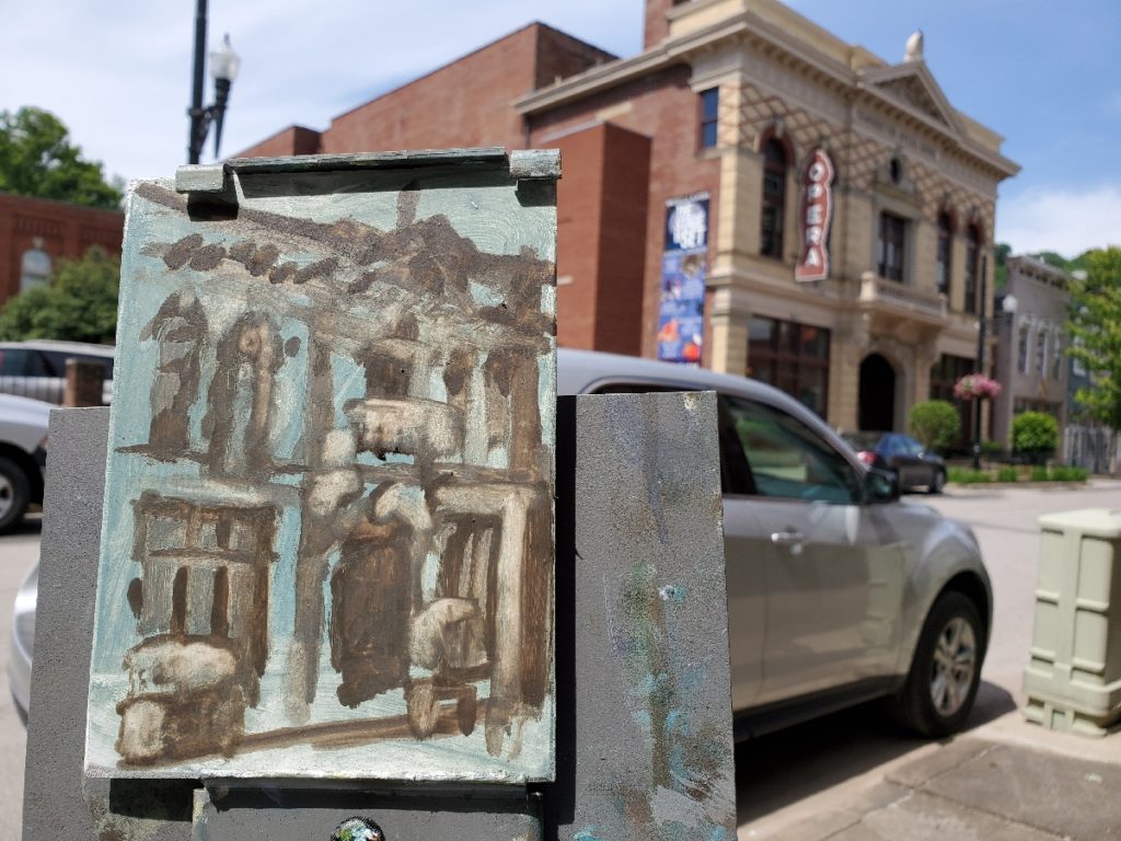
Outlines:
{"type": "Polygon", "coordinates": [[[1084,264],[1085,279],[1071,281],[1067,333],[1068,353],[1085,366],[1090,386],[1075,397],[1091,416],[1121,431],[1121,248],[1091,251],[1084,264]]]}

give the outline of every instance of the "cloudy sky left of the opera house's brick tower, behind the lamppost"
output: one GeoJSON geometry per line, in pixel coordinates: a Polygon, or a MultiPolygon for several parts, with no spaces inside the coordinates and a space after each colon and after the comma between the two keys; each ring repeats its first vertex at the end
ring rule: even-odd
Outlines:
{"type": "MultiPolygon", "coordinates": [[[[110,175],[169,176],[184,163],[194,3],[37,0],[4,9],[0,110],[56,113],[110,175]]],[[[382,90],[543,20],[618,54],[639,48],[637,0],[211,0],[210,45],[242,57],[222,138],[232,154],[291,123],[326,128],[382,90]]],[[[206,101],[213,87],[206,81],[206,101]]],[[[204,160],[213,148],[207,147],[204,160]]]]}

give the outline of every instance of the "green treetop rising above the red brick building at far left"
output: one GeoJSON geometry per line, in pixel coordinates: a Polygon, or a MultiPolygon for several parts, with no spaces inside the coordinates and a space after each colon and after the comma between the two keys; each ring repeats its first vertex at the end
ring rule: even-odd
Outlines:
{"type": "Polygon", "coordinates": [[[38,108],[0,111],[0,191],[90,207],[121,206],[101,163],[84,160],[62,120],[38,108]]]}

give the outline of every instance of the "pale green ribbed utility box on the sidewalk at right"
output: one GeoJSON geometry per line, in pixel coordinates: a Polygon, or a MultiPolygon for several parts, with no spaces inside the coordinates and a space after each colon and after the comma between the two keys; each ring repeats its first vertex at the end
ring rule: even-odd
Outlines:
{"type": "Polygon", "coordinates": [[[1043,529],[1023,714],[1104,736],[1121,720],[1121,511],[1039,518],[1043,529]]]}

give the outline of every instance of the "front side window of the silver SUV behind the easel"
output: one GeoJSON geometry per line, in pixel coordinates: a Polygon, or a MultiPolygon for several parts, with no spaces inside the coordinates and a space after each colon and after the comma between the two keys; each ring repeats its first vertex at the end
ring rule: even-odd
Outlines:
{"type": "Polygon", "coordinates": [[[754,400],[731,396],[721,399],[757,496],[837,505],[860,501],[856,470],[804,423],[754,400]]]}

